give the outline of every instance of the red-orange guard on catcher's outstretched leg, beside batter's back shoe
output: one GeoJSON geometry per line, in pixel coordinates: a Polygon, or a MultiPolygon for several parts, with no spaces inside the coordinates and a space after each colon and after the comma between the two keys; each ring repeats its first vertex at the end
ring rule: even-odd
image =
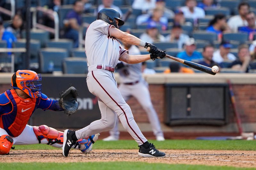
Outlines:
{"type": "Polygon", "coordinates": [[[56,129],[50,128],[46,125],[33,126],[34,133],[38,139],[38,143],[41,140],[47,139],[48,144],[62,143],[63,144],[63,132],[59,132],[56,129]]]}

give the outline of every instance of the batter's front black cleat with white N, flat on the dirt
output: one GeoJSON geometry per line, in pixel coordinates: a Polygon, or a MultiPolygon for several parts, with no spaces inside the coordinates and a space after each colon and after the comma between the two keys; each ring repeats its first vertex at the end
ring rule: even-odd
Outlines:
{"type": "Polygon", "coordinates": [[[139,146],[139,155],[142,157],[165,157],[165,153],[158,151],[156,146],[150,143],[149,148],[145,148],[142,145],[139,146]]]}

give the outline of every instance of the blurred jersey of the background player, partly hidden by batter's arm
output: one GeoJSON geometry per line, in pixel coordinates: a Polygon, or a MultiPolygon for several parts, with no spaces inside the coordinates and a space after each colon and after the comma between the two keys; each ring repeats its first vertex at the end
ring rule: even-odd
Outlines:
{"type": "MultiPolygon", "coordinates": [[[[132,45],[129,49],[129,55],[140,55],[140,50],[135,45],[132,45]]],[[[124,62],[123,62],[124,63],[124,62]]],[[[133,83],[142,80],[141,66],[142,63],[127,64],[124,63],[125,67],[118,70],[120,75],[120,81],[122,83],[133,83]]]]}

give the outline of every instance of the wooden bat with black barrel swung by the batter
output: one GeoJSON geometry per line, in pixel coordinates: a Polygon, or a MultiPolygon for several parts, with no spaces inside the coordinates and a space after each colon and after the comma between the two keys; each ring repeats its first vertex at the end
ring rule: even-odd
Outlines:
{"type": "MultiPolygon", "coordinates": [[[[150,50],[150,47],[147,48],[147,51],[149,51],[149,50],[150,50]]],[[[192,67],[196,70],[200,70],[200,71],[203,71],[205,73],[212,74],[212,75],[216,74],[215,72],[212,71],[212,68],[210,68],[210,67],[206,67],[204,65],[193,63],[193,62],[190,62],[190,61],[187,61],[187,60],[182,60],[180,58],[176,58],[176,57],[173,57],[171,55],[165,55],[165,57],[170,58],[172,60],[175,60],[179,63],[185,64],[185,65],[187,65],[189,67],[192,67]]]]}

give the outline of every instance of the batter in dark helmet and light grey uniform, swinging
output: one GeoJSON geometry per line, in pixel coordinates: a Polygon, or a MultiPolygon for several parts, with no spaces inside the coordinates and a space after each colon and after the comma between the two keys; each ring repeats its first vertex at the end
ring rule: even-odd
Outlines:
{"type": "Polygon", "coordinates": [[[78,139],[90,134],[113,129],[116,125],[116,115],[124,128],[138,143],[139,155],[143,157],[164,157],[165,153],[158,151],[155,146],[141,133],[133,119],[131,108],[127,105],[117,89],[114,72],[118,60],[134,64],[156,58],[163,58],[165,52],[156,46],[143,42],[137,37],[124,33],[118,26],[124,25],[118,11],[104,8],[99,11],[96,21],[88,27],[85,37],[85,52],[87,56],[88,75],[86,78],[89,91],[98,97],[101,119],[77,131],[66,129],[63,137],[63,156],[68,156],[69,150],[78,139]],[[119,41],[150,47],[150,55],[129,55],[119,41]]]}

